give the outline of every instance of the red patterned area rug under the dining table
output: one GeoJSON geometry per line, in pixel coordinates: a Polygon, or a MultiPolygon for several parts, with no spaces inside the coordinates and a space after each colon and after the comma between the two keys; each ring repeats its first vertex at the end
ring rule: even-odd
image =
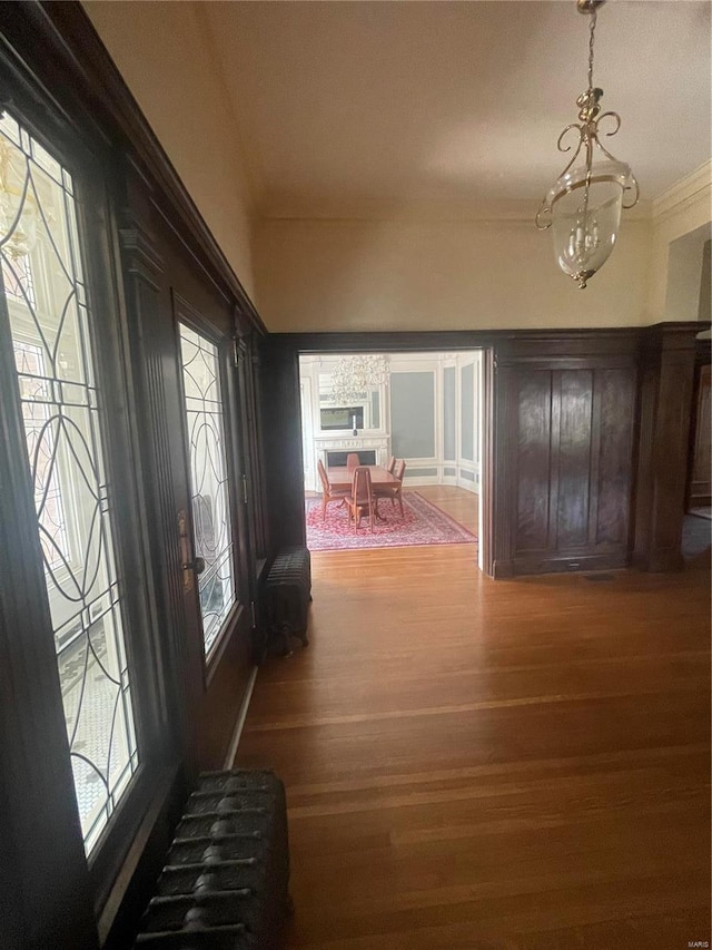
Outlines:
{"type": "Polygon", "coordinates": [[[322,499],[307,498],[307,547],[312,551],[349,548],[399,548],[408,545],[472,545],[476,536],[423,498],[417,491],[403,493],[404,517],[388,500],[378,503],[384,521],[377,521],[372,535],[364,518],[358,531],[348,523],[348,509],[332,501],[322,521],[322,499]]]}

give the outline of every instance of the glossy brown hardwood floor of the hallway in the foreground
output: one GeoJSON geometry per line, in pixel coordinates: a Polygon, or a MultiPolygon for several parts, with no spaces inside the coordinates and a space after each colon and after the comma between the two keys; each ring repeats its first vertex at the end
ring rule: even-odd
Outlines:
{"type": "Polygon", "coordinates": [[[711,939],[709,570],[492,581],[445,546],[313,571],[310,646],[261,668],[237,756],[287,786],[289,948],[711,939]]]}

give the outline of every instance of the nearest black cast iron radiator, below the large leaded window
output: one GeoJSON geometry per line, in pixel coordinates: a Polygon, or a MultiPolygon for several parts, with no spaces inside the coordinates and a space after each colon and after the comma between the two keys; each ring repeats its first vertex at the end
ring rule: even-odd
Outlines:
{"type": "Polygon", "coordinates": [[[136,950],[277,950],[288,887],[279,778],[206,772],[176,829],[136,950]]]}

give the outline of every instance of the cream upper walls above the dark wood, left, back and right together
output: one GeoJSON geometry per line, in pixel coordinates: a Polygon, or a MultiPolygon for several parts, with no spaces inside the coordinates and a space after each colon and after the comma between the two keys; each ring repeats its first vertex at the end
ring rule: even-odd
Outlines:
{"type": "MultiPolygon", "coordinates": [[[[605,327],[684,319],[666,307],[669,247],[712,217],[709,163],[653,200],[652,221],[624,214],[614,254],[585,291],[558,271],[533,213],[516,221],[408,219],[397,210],[379,212],[384,219],[284,216],[256,221],[250,231],[245,148],[201,4],[83,7],[269,330],[605,327]],[[196,140],[210,143],[209,154],[196,140]]],[[[257,193],[259,183],[249,184],[257,193]]]]}

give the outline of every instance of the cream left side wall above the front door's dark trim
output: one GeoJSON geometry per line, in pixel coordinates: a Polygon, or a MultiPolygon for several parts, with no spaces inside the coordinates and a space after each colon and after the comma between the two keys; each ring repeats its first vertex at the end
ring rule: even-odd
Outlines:
{"type": "Polygon", "coordinates": [[[82,6],[254,298],[250,195],[241,143],[199,4],[87,0],[82,6]],[[196,141],[206,148],[196,148],[196,141]]]}

